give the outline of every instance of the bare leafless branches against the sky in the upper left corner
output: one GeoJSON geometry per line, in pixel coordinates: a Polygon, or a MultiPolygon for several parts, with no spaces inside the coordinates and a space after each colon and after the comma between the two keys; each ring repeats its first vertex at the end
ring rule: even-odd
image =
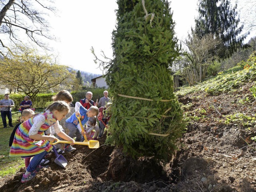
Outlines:
{"type": "Polygon", "coordinates": [[[45,20],[45,16],[54,11],[51,0],[0,0],[0,10],[0,54],[4,56],[6,50],[10,51],[10,41],[4,34],[14,44],[22,42],[22,34],[26,34],[38,46],[47,48],[42,37],[53,39],[45,20]]]}

